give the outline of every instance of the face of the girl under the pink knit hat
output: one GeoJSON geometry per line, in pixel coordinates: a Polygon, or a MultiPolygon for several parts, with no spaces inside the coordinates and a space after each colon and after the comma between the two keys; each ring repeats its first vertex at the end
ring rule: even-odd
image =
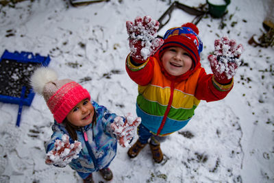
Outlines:
{"type": "Polygon", "coordinates": [[[92,122],[94,108],[88,99],[84,99],[69,112],[66,119],[75,126],[86,126],[92,122]]]}

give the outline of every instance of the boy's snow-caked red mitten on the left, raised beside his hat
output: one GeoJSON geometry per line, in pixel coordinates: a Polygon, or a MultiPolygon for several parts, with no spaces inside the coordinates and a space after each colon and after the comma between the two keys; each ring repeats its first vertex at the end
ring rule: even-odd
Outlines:
{"type": "Polygon", "coordinates": [[[129,34],[130,56],[137,63],[142,63],[152,56],[164,43],[161,38],[156,38],[159,22],[150,16],[136,17],[134,23],[127,21],[127,34],[129,34]]]}

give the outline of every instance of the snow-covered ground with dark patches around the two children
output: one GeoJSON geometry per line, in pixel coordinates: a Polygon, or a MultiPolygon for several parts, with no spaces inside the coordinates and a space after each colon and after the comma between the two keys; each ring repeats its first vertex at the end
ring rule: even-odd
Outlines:
{"type": "MultiPolygon", "coordinates": [[[[206,0],[179,2],[197,7],[206,0]]],[[[49,54],[49,66],[60,78],[81,82],[112,112],[136,114],[137,86],[125,72],[125,21],[145,15],[159,19],[169,5],[110,0],[75,8],[65,0],[36,0],[0,7],[0,53],[49,54]]],[[[247,43],[253,34],[261,35],[267,7],[266,0],[233,0],[223,29],[221,19],[210,16],[198,23],[201,64],[208,73],[214,39],[229,36],[245,47],[232,92],[222,101],[201,101],[192,121],[162,143],[161,164],[153,162],[148,146],[134,159],[119,147],[110,165],[111,182],[274,182],[274,50],[247,43]]],[[[175,10],[159,34],[192,18],[175,10]]],[[[44,99],[36,95],[32,106],[23,107],[20,127],[15,127],[17,112],[18,105],[0,103],[0,182],[81,182],[70,167],[45,164],[53,117],[44,99]]],[[[103,181],[98,173],[94,178],[103,181]]]]}

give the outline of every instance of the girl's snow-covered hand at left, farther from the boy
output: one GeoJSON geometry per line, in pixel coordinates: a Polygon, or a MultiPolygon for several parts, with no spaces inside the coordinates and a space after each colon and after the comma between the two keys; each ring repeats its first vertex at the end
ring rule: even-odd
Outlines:
{"type": "Polygon", "coordinates": [[[55,164],[59,167],[66,167],[72,159],[78,158],[77,154],[82,149],[82,144],[79,141],[69,143],[69,136],[64,134],[62,141],[56,140],[54,148],[46,155],[46,164],[55,164]]]}

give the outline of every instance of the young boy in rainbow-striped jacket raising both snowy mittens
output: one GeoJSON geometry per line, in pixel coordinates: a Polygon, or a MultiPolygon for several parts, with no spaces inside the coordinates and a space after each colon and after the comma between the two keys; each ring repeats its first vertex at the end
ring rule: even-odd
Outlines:
{"type": "Polygon", "coordinates": [[[164,40],[155,38],[158,25],[149,16],[126,23],[126,70],[138,84],[136,112],[142,118],[138,141],[127,154],[136,157],[150,138],[153,159],[160,163],[160,142],[190,121],[199,101],[217,101],[232,90],[242,45],[225,37],[215,40],[214,55],[208,56],[213,74],[207,74],[200,63],[203,43],[196,25],[173,27],[164,40]]]}

